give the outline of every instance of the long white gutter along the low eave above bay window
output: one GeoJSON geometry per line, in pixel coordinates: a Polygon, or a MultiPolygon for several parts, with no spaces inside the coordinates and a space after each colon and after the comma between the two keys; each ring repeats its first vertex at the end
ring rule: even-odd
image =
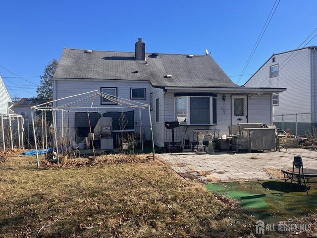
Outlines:
{"type": "Polygon", "coordinates": [[[165,87],[167,92],[221,92],[221,93],[281,93],[286,88],[199,88],[199,87],[165,87]]]}

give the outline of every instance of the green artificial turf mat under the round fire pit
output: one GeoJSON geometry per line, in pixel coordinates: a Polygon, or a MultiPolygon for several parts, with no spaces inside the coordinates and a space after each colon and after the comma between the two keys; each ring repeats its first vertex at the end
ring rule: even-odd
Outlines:
{"type": "Polygon", "coordinates": [[[317,183],[309,183],[309,196],[304,185],[284,180],[210,183],[206,188],[213,193],[226,194],[238,200],[246,213],[265,222],[285,221],[317,212],[317,183]]]}

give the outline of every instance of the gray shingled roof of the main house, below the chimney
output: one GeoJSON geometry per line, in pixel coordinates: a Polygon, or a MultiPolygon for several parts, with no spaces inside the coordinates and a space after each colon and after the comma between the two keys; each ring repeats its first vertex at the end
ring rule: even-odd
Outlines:
{"type": "Polygon", "coordinates": [[[211,56],[146,54],[146,62],[134,60],[132,52],[63,50],[53,78],[125,79],[151,81],[162,87],[240,87],[234,84],[211,56]],[[137,71],[137,73],[136,73],[137,71]],[[172,74],[172,78],[166,78],[172,74]]]}

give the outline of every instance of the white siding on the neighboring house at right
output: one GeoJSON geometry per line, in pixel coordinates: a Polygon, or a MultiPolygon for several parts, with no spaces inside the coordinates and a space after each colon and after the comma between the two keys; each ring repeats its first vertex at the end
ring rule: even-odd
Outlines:
{"type": "Polygon", "coordinates": [[[268,60],[245,86],[287,88],[285,92],[279,93],[278,106],[273,107],[273,115],[310,113],[310,50],[303,49],[301,51],[278,54],[274,57],[275,63],[272,63],[272,59],[268,60]],[[287,64],[285,64],[286,62],[287,64]],[[277,63],[279,65],[278,76],[270,78],[268,74],[269,67],[277,63]]]}

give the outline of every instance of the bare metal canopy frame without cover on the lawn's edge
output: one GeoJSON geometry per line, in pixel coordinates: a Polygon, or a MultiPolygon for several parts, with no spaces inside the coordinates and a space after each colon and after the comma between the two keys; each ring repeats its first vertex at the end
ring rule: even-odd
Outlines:
{"type": "MultiPolygon", "coordinates": [[[[35,125],[34,125],[34,113],[35,111],[42,111],[47,112],[51,111],[53,115],[53,127],[54,127],[54,136],[53,136],[53,144],[56,145],[56,153],[58,156],[58,146],[57,146],[57,137],[56,137],[56,132],[57,132],[57,125],[56,125],[56,111],[60,111],[61,114],[63,115],[64,112],[87,112],[89,115],[89,112],[102,112],[102,111],[108,111],[109,109],[124,109],[124,108],[132,108],[133,110],[139,110],[139,115],[140,115],[140,140],[141,140],[141,149],[143,150],[143,128],[142,128],[142,117],[141,117],[141,110],[147,110],[149,113],[149,119],[150,119],[150,130],[151,130],[151,140],[152,140],[152,154],[153,154],[153,160],[155,160],[155,150],[154,150],[154,136],[153,136],[153,126],[152,126],[152,119],[151,119],[151,111],[150,111],[150,105],[120,98],[117,96],[113,96],[110,94],[103,93],[98,90],[86,92],[86,93],[81,93],[81,94],[76,94],[60,99],[56,99],[47,103],[43,103],[37,106],[33,106],[31,108],[31,116],[32,116],[32,124],[33,124],[33,133],[34,133],[34,142],[35,142],[35,150],[36,150],[36,161],[37,161],[37,167],[40,167],[39,164],[39,154],[38,154],[38,145],[37,145],[37,140],[36,140],[36,133],[35,133],[35,125]],[[72,102],[66,103],[61,106],[55,106],[57,101],[60,100],[65,100],[65,99],[70,99],[74,97],[81,97],[79,99],[76,99],[72,102]],[[103,106],[99,105],[99,101],[96,102],[96,99],[99,98],[105,98],[113,103],[116,103],[116,105],[111,106],[103,106]],[[89,107],[83,106],[83,104],[90,103],[89,107]]],[[[43,117],[43,116],[42,116],[43,117]]],[[[68,117],[68,116],[67,116],[68,117]]],[[[88,116],[89,117],[89,116],[88,116]]],[[[62,125],[63,125],[63,116],[62,116],[62,125]]],[[[69,123],[69,118],[68,118],[68,123],[69,123]]],[[[43,127],[43,123],[42,123],[43,127]]],[[[43,128],[42,128],[42,133],[43,133],[43,128]]],[[[61,133],[63,134],[63,126],[62,126],[62,131],[61,133]]],[[[44,144],[44,143],[43,143],[44,144]]],[[[43,146],[44,147],[44,146],[43,146]]],[[[44,148],[43,148],[44,149],[44,148]]]]}

